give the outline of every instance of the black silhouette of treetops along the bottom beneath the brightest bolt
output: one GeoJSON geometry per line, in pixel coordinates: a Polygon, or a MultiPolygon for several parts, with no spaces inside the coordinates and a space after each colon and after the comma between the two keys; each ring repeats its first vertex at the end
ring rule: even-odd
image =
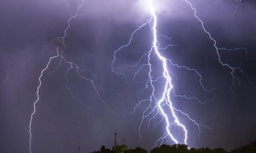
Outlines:
{"type": "MultiPolygon", "coordinates": [[[[105,146],[100,148],[100,151],[94,151],[92,153],[122,153],[115,152],[110,149],[106,149],[105,146]]],[[[140,147],[136,147],[135,149],[129,149],[123,153],[147,153],[147,150],[142,149],[140,147]]],[[[256,140],[254,142],[250,142],[249,144],[242,146],[237,149],[233,149],[230,152],[225,151],[222,148],[210,149],[206,148],[190,148],[188,149],[187,145],[161,145],[160,147],[156,147],[150,151],[150,153],[256,153],[256,140]]]]}

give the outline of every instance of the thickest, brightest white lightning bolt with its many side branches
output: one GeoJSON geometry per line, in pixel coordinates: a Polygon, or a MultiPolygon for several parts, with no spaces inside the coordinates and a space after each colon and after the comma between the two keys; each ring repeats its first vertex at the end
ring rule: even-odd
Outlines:
{"type": "MultiPolygon", "coordinates": [[[[199,138],[199,135],[201,133],[200,131],[200,126],[202,127],[206,127],[208,129],[211,129],[210,127],[206,126],[206,125],[203,125],[203,124],[200,124],[200,123],[197,123],[194,119],[192,119],[188,114],[184,113],[183,111],[175,108],[171,102],[171,99],[170,99],[170,95],[171,95],[171,91],[173,93],[173,96],[174,97],[182,97],[182,98],[186,98],[186,99],[196,99],[199,103],[205,103],[205,102],[208,102],[208,101],[213,101],[213,100],[206,100],[204,102],[200,102],[199,99],[197,97],[187,97],[186,95],[175,95],[174,93],[174,89],[173,89],[173,86],[172,86],[172,83],[171,83],[171,75],[170,73],[172,73],[170,71],[170,68],[168,66],[168,64],[171,64],[172,66],[175,66],[175,67],[178,67],[178,68],[185,68],[187,70],[191,70],[191,71],[194,71],[198,76],[199,76],[199,83],[201,85],[201,87],[203,88],[203,90],[205,90],[206,92],[210,92],[211,90],[214,90],[214,89],[206,89],[203,84],[202,84],[202,75],[194,68],[189,68],[189,67],[186,67],[184,65],[178,65],[178,64],[175,64],[173,63],[170,59],[167,59],[165,58],[163,55],[161,55],[160,51],[159,50],[165,50],[166,48],[168,47],[175,47],[177,46],[176,45],[172,45],[172,44],[169,44],[165,47],[159,47],[160,46],[160,43],[158,41],[158,37],[164,37],[168,40],[171,39],[171,37],[167,37],[165,35],[158,35],[158,32],[157,32],[157,15],[154,11],[154,7],[153,7],[153,4],[152,4],[152,1],[148,1],[149,2],[149,5],[150,5],[150,12],[151,12],[151,18],[150,20],[146,21],[145,23],[141,24],[140,26],[137,27],[137,29],[131,34],[130,36],[130,39],[128,41],[128,43],[126,45],[123,45],[121,46],[120,48],[118,48],[115,52],[114,52],[114,60],[111,64],[111,67],[112,67],[112,71],[116,74],[120,74],[120,75],[124,75],[125,77],[125,81],[126,83],[128,84],[128,80],[127,80],[127,77],[126,77],[126,74],[124,72],[117,72],[117,71],[114,71],[114,68],[113,68],[113,65],[114,65],[114,62],[116,61],[116,54],[121,50],[121,49],[124,49],[125,47],[129,46],[131,43],[132,43],[132,39],[133,39],[133,36],[136,34],[136,32],[138,32],[140,29],[142,29],[143,27],[145,27],[146,25],[149,25],[150,26],[150,29],[151,29],[151,32],[152,32],[152,35],[153,35],[153,40],[152,40],[152,47],[150,49],[150,51],[146,52],[144,55],[141,56],[141,58],[139,59],[139,61],[134,64],[134,65],[127,65],[128,67],[137,67],[139,64],[141,64],[142,62],[144,61],[147,61],[146,63],[142,63],[141,66],[139,66],[139,68],[137,69],[137,71],[134,73],[134,77],[131,81],[134,81],[135,80],[135,77],[136,75],[138,74],[138,72],[145,66],[149,67],[149,72],[148,72],[148,79],[147,80],[144,80],[142,82],[135,82],[136,84],[138,83],[145,83],[146,82],[146,86],[145,88],[143,88],[143,90],[141,92],[143,92],[144,90],[146,89],[151,89],[151,95],[149,98],[146,98],[146,99],[142,99],[140,100],[136,106],[134,107],[134,110],[132,112],[128,112],[130,114],[133,114],[137,107],[142,103],[142,102],[149,102],[147,108],[145,109],[145,111],[143,111],[143,116],[142,116],[142,119],[141,119],[141,122],[140,122],[140,125],[139,125],[139,128],[138,128],[138,133],[139,133],[139,138],[141,138],[141,134],[140,134],[140,129],[141,129],[141,126],[142,126],[142,123],[148,119],[149,121],[149,125],[148,125],[148,128],[153,120],[153,126],[155,127],[157,124],[159,124],[160,122],[162,121],[165,121],[165,132],[163,134],[163,136],[161,136],[156,142],[155,142],[155,146],[157,145],[158,141],[162,141],[163,142],[163,139],[165,139],[167,136],[169,136],[171,138],[171,140],[175,143],[175,144],[178,144],[179,141],[178,141],[178,138],[175,138],[173,136],[173,134],[171,133],[171,127],[172,126],[178,126],[178,128],[181,128],[183,130],[183,133],[184,133],[184,139],[183,139],[183,142],[184,144],[187,145],[187,139],[188,139],[188,130],[186,128],[186,126],[180,121],[180,119],[178,118],[177,116],[177,113],[180,113],[181,115],[184,115],[186,116],[190,121],[192,121],[193,123],[195,123],[195,125],[198,127],[198,138],[199,138]],[[157,78],[157,79],[153,79],[153,76],[152,76],[152,64],[151,64],[151,57],[155,55],[160,61],[161,61],[161,64],[162,64],[162,74],[157,78]],[[164,79],[165,80],[165,83],[164,83],[164,87],[163,87],[163,92],[162,92],[162,96],[161,98],[157,99],[156,96],[155,96],[155,92],[156,92],[156,89],[155,89],[155,84],[157,83],[158,80],[160,79],[164,79]],[[169,111],[170,111],[170,114],[167,114],[166,110],[164,109],[164,107],[168,107],[169,111]],[[157,115],[161,115],[162,118],[160,121],[156,122],[155,123],[155,117],[157,115]],[[151,116],[151,117],[150,117],[151,116]],[[171,117],[170,117],[171,116],[171,117]]],[[[173,73],[172,73],[173,74],[173,73]]],[[[173,74],[173,76],[175,77],[175,75],[173,74]]]]}

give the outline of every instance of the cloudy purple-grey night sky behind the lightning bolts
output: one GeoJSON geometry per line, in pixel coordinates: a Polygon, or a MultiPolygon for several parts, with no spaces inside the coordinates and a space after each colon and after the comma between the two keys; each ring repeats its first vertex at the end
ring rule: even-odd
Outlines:
{"type": "MultiPolygon", "coordinates": [[[[218,48],[247,48],[219,50],[221,61],[239,67],[249,77],[249,82],[239,70],[234,71],[232,90],[231,69],[219,63],[214,42],[203,31],[194,10],[185,0],[157,1],[157,34],[165,47],[161,54],[174,64],[196,69],[195,71],[169,65],[170,77],[176,95],[171,92],[173,106],[187,113],[196,122],[211,129],[197,126],[177,112],[188,130],[188,146],[234,149],[256,139],[256,3],[253,0],[189,0],[204,22],[205,29],[216,40],[218,48]],[[235,9],[237,10],[235,12],[235,9]],[[235,12],[235,13],[234,13],[235,12]],[[233,16],[233,17],[232,17],[233,16]],[[240,81],[238,81],[238,79],[240,81]],[[251,84],[250,84],[251,83],[251,84]]],[[[39,88],[39,101],[32,120],[31,148],[33,153],[70,153],[99,150],[101,145],[114,145],[114,131],[118,144],[125,139],[129,148],[139,146],[147,150],[165,132],[165,122],[157,124],[145,119],[138,128],[143,111],[152,93],[146,86],[149,67],[136,74],[143,59],[141,56],[152,46],[149,24],[133,35],[131,44],[116,54],[114,52],[129,42],[131,34],[151,15],[145,9],[146,0],[86,0],[78,15],[70,20],[70,28],[64,38],[63,57],[75,63],[75,68],[54,58],[43,72],[39,88]],[[61,62],[61,63],[60,63],[61,62]],[[59,64],[60,63],[60,64],[59,64]],[[59,65],[59,66],[58,66],[59,65]],[[57,69],[58,67],[58,69],[57,69]],[[143,91],[142,91],[143,90],[143,91]],[[142,92],[141,92],[142,91],[142,92]],[[100,97],[99,97],[100,96],[100,97]]],[[[41,71],[50,57],[63,50],[63,42],[52,40],[64,36],[68,19],[75,15],[80,0],[1,0],[0,2],[0,152],[29,152],[29,123],[33,103],[37,99],[41,71]],[[48,46],[47,46],[48,45],[48,46]],[[46,47],[47,46],[47,47],[46,47]]],[[[162,76],[162,65],[152,55],[152,78],[162,76]]],[[[161,97],[164,80],[154,83],[155,95],[161,97]]],[[[155,123],[161,120],[157,115],[155,123]]],[[[172,133],[183,141],[182,129],[174,127],[172,133]]],[[[164,144],[174,144],[166,137],[164,144]]],[[[157,146],[160,142],[157,143],[157,146]]]]}

